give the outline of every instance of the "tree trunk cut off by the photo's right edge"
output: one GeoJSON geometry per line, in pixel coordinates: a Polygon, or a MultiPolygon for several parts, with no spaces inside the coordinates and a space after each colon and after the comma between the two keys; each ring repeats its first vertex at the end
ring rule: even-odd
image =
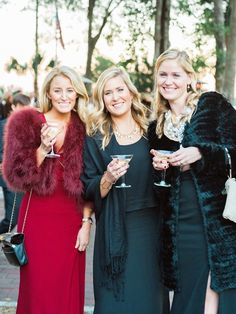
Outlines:
{"type": "Polygon", "coordinates": [[[234,103],[235,74],[236,74],[236,1],[231,0],[231,15],[229,27],[229,42],[225,60],[225,76],[223,93],[234,103]]]}

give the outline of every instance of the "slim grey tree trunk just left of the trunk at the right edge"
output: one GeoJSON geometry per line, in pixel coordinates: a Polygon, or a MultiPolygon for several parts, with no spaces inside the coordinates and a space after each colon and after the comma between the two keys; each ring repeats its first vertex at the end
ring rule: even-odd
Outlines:
{"type": "Polygon", "coordinates": [[[216,41],[216,66],[215,80],[216,90],[222,92],[224,68],[225,68],[225,28],[223,0],[214,0],[214,22],[215,22],[215,41],[216,41]]]}

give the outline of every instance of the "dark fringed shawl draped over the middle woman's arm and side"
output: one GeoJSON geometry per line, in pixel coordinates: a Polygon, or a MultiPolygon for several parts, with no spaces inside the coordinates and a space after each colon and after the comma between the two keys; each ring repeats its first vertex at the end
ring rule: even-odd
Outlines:
{"type": "Polygon", "coordinates": [[[111,288],[117,298],[123,298],[123,274],[127,256],[125,228],[125,191],[112,189],[105,198],[100,196],[100,180],[115,154],[108,145],[101,148],[101,136],[86,137],[84,149],[85,198],[93,201],[96,220],[100,228],[97,233],[100,250],[100,267],[104,274],[102,285],[111,288]]]}

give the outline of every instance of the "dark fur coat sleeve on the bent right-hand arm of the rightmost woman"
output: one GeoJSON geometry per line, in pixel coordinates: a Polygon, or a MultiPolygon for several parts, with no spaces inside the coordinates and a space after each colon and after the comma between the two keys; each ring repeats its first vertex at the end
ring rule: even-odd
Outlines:
{"type": "Polygon", "coordinates": [[[201,171],[207,168],[226,171],[224,147],[228,148],[236,168],[236,111],[225,97],[216,92],[203,94],[190,125],[185,139],[188,146],[201,151],[201,171]]]}

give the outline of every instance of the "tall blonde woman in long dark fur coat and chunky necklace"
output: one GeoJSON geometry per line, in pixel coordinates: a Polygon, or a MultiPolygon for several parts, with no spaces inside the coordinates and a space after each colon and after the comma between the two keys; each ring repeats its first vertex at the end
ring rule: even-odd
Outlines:
{"type": "Polygon", "coordinates": [[[236,170],[236,111],[220,94],[198,95],[184,51],[156,61],[157,119],[149,128],[164,210],[164,282],[175,290],[171,314],[236,313],[236,224],[222,217],[225,148],[236,170]],[[158,150],[174,151],[167,159],[158,150]]]}

